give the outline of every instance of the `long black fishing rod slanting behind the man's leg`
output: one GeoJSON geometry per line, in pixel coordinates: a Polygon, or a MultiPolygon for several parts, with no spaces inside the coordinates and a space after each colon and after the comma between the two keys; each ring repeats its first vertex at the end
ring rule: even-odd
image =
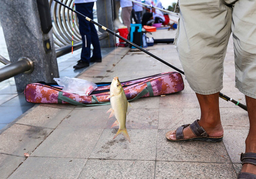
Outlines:
{"type": "MultiPolygon", "coordinates": [[[[114,36],[116,36],[116,37],[118,37],[118,38],[121,38],[122,40],[126,41],[126,42],[129,43],[130,45],[133,45],[134,47],[136,47],[136,48],[139,49],[140,51],[146,53],[147,55],[149,55],[149,56],[151,56],[151,57],[153,57],[153,58],[155,58],[156,60],[162,62],[163,64],[165,64],[165,65],[171,67],[172,69],[176,70],[177,72],[179,72],[179,73],[185,75],[185,73],[184,73],[183,71],[181,71],[180,69],[178,69],[178,68],[174,67],[173,65],[171,65],[171,64],[169,64],[169,63],[163,61],[163,60],[160,59],[159,57],[157,57],[157,56],[155,56],[155,55],[149,53],[148,51],[144,50],[144,49],[141,48],[140,46],[138,46],[138,45],[134,44],[133,42],[127,40],[126,38],[124,38],[124,37],[118,35],[117,33],[113,32],[112,30],[108,29],[107,27],[105,27],[105,26],[99,24],[98,22],[95,22],[95,21],[92,20],[91,18],[89,18],[89,17],[83,15],[82,13],[80,13],[80,12],[78,12],[78,11],[72,9],[71,7],[67,6],[66,4],[64,4],[64,3],[62,3],[62,2],[60,2],[60,1],[58,1],[58,0],[54,0],[54,1],[57,2],[57,3],[59,3],[60,5],[62,5],[62,6],[64,6],[64,7],[66,7],[66,8],[68,8],[69,10],[72,10],[72,11],[75,12],[76,14],[85,17],[85,19],[88,20],[89,22],[94,23],[95,25],[97,25],[97,26],[99,26],[100,28],[102,28],[103,30],[105,30],[105,31],[107,31],[107,32],[109,32],[109,33],[111,33],[112,35],[114,35],[114,36]]],[[[221,98],[225,99],[226,101],[231,101],[231,102],[233,102],[234,104],[238,105],[239,107],[241,107],[241,108],[243,108],[243,109],[245,109],[245,110],[247,111],[247,106],[244,105],[244,104],[242,104],[242,103],[240,103],[239,101],[236,101],[236,100],[234,100],[234,99],[232,99],[232,98],[230,98],[230,97],[224,95],[224,94],[221,93],[221,92],[220,92],[219,96],[220,96],[221,98]]]]}

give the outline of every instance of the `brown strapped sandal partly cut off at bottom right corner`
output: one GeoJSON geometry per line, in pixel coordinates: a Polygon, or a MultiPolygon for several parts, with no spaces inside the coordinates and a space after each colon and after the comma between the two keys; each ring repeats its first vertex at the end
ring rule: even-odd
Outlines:
{"type": "MultiPolygon", "coordinates": [[[[242,153],[240,160],[242,162],[242,165],[244,164],[256,165],[256,153],[253,153],[253,152],[242,153]]],[[[238,174],[238,179],[256,179],[256,175],[250,174],[247,172],[241,172],[238,174]]]]}

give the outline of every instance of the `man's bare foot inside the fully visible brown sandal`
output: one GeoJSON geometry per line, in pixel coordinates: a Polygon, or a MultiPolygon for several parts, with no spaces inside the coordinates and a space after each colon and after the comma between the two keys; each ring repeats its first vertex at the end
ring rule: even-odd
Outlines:
{"type": "MultiPolygon", "coordinates": [[[[199,126],[202,126],[202,128],[205,130],[205,132],[208,134],[208,137],[210,138],[221,138],[223,136],[223,127],[221,124],[217,125],[209,125],[209,124],[203,124],[201,120],[198,121],[199,126]]],[[[176,139],[176,130],[175,131],[169,131],[167,133],[169,136],[168,137],[170,140],[175,141],[176,139]]],[[[184,139],[195,139],[196,136],[195,133],[191,130],[191,127],[187,126],[183,129],[183,136],[184,139]]],[[[167,139],[168,139],[167,138],[167,139]]]]}

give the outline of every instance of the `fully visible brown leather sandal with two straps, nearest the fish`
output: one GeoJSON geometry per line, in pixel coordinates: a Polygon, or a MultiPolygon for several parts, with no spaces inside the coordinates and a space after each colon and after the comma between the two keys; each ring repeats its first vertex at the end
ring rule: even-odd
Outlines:
{"type": "Polygon", "coordinates": [[[170,141],[177,141],[177,142],[187,142],[187,141],[206,141],[206,142],[221,142],[223,139],[223,135],[220,137],[210,137],[203,127],[199,126],[198,119],[195,120],[192,124],[182,125],[177,128],[176,130],[176,140],[170,139],[170,135],[173,131],[169,131],[165,134],[166,139],[170,141]],[[186,127],[190,127],[192,132],[195,134],[196,137],[184,139],[183,129],[186,127]]]}

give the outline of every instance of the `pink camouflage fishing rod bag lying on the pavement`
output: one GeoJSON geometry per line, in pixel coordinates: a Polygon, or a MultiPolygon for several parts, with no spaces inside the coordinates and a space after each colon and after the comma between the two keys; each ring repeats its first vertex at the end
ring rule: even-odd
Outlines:
{"type": "MultiPolygon", "coordinates": [[[[157,96],[179,92],[184,89],[180,73],[166,72],[136,80],[121,83],[128,101],[140,97],[157,96]]],[[[90,106],[110,104],[111,83],[97,83],[98,88],[90,95],[81,96],[65,92],[60,86],[42,83],[28,84],[24,90],[27,102],[32,103],[71,103],[74,105],[90,106]]]]}

